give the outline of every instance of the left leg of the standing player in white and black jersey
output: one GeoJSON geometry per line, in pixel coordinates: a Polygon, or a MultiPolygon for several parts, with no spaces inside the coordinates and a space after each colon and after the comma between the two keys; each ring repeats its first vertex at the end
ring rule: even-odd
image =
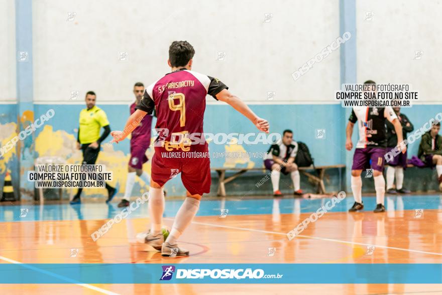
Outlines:
{"type": "Polygon", "coordinates": [[[364,209],[364,203],[362,202],[362,179],[361,173],[369,163],[369,155],[367,149],[357,148],[355,154],[353,155],[353,165],[352,165],[352,177],[351,186],[353,192],[353,198],[355,203],[349,212],[357,212],[364,209]]]}

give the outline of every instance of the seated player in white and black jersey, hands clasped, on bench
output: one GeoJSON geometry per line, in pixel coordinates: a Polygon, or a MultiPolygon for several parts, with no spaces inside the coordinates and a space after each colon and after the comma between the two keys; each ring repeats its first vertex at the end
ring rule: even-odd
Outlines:
{"type": "Polygon", "coordinates": [[[285,175],[290,173],[293,181],[293,194],[302,194],[298,166],[294,163],[297,152],[298,144],[293,140],[293,132],[288,129],[282,133],[282,139],[273,144],[268,150],[268,156],[264,159],[264,166],[272,171],[270,178],[272,179],[274,196],[282,196],[282,192],[279,190],[280,172],[285,175]]]}

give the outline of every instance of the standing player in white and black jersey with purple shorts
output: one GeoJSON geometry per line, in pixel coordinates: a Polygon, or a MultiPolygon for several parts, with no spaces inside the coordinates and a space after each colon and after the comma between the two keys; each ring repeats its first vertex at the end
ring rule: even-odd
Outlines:
{"type": "MultiPolygon", "coordinates": [[[[376,84],[369,80],[364,84],[376,84]]],[[[376,209],[375,213],[385,212],[384,196],[385,196],[385,179],[382,171],[384,169],[384,155],[387,147],[386,136],[386,120],[390,121],[397,134],[397,143],[402,142],[402,126],[397,119],[391,107],[386,108],[369,108],[369,107],[353,107],[352,114],[347,124],[347,141],[346,149],[353,148],[352,134],[353,127],[358,123],[359,141],[356,145],[355,154],[353,156],[352,166],[352,191],[355,198],[355,204],[349,210],[355,212],[364,209],[362,203],[362,179],[361,172],[364,169],[371,168],[368,173],[373,172],[376,190],[376,209]]],[[[403,153],[406,147],[401,145],[400,149],[403,153]]]]}

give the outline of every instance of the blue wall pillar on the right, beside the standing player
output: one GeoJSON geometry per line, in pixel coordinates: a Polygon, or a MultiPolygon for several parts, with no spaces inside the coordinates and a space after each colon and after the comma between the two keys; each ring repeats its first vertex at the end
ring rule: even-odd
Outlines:
{"type": "MultiPolygon", "coordinates": [[[[339,31],[340,36],[342,36],[345,32],[350,32],[351,38],[346,41],[340,47],[341,54],[341,85],[344,83],[356,83],[356,1],[355,0],[340,0],[339,1],[339,31]]],[[[341,88],[341,85],[340,88],[341,88]]],[[[346,191],[350,191],[350,176],[351,176],[351,167],[353,162],[353,151],[349,152],[345,149],[345,128],[347,126],[348,118],[351,114],[351,108],[342,108],[342,117],[344,120],[341,120],[343,124],[341,128],[343,130],[343,140],[342,144],[342,159],[345,161],[347,166],[346,168],[346,191]]],[[[353,146],[356,145],[357,140],[357,130],[353,132],[353,146]]]]}

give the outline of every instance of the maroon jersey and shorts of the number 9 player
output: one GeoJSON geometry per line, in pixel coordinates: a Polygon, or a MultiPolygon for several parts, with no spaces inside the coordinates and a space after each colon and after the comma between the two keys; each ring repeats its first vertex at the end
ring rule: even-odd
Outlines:
{"type": "Polygon", "coordinates": [[[216,99],[215,95],[227,88],[216,78],[184,68],[166,74],[146,88],[136,108],[148,114],[155,109],[157,113],[155,128],[159,136],[154,143],[153,181],[162,186],[181,172],[181,180],[191,194],[210,191],[210,159],[187,155],[191,155],[189,152],[208,154],[203,136],[205,97],[209,94],[216,99]],[[190,144],[189,138],[195,134],[202,141],[190,144]],[[167,153],[183,156],[171,158],[164,155],[167,153]]]}

